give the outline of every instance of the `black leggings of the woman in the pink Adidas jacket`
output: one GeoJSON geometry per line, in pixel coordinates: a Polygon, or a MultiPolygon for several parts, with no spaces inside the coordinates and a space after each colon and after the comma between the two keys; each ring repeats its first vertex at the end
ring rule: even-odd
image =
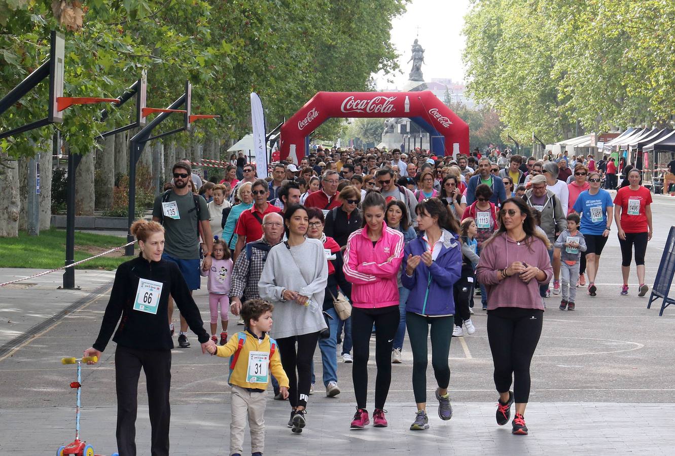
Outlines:
{"type": "Polygon", "coordinates": [[[354,365],[352,380],[356,406],[366,408],[368,400],[368,358],[371,352],[371,333],[375,324],[375,408],[383,409],[391,384],[391,349],[398,329],[400,313],[398,305],[384,308],[352,308],[352,343],[354,365]]]}

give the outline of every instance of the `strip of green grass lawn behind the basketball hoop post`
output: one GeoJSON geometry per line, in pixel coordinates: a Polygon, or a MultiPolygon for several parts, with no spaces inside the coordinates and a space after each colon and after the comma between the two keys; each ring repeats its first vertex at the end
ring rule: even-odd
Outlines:
{"type": "MultiPolygon", "coordinates": [[[[126,237],[75,232],[75,261],[105,252],[126,244],[126,237]]],[[[51,227],[40,231],[38,236],[29,236],[20,231],[18,237],[0,237],[0,257],[3,267],[53,269],[63,266],[65,261],[65,230],[51,227]]],[[[118,250],[105,256],[89,260],[76,269],[114,270],[130,257],[122,256],[118,250]]],[[[58,273],[55,273],[58,274],[58,273]]]]}

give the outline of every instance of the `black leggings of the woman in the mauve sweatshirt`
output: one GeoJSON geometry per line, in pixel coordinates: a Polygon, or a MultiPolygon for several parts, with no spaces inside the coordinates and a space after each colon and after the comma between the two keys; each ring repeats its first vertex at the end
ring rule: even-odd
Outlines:
{"type": "Polygon", "coordinates": [[[495,387],[506,393],[511,387],[516,403],[530,396],[530,362],[535,354],[543,310],[499,307],[487,312],[487,339],[495,366],[495,387]]]}

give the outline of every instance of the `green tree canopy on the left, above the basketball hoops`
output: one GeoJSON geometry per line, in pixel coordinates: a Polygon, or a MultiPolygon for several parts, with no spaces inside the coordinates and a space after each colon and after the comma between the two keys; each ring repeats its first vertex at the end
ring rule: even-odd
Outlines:
{"type": "MultiPolygon", "coordinates": [[[[222,116],[196,124],[196,136],[236,138],[250,128],[252,91],[276,125],[319,90],[371,90],[371,74],[396,70],[390,24],[407,1],[0,0],[0,94],[45,60],[57,29],[66,36],[65,96],[115,98],[147,69],[148,106],[165,107],[189,79],[193,113],[222,116]]],[[[0,130],[45,117],[47,98],[41,84],[0,117],[0,130]]],[[[99,109],[71,107],[56,125],[71,150],[92,150],[132,112],[112,109],[101,123],[99,109]]],[[[182,122],[174,117],[163,128],[182,122]]],[[[53,128],[0,140],[0,151],[32,155],[53,128]]]]}

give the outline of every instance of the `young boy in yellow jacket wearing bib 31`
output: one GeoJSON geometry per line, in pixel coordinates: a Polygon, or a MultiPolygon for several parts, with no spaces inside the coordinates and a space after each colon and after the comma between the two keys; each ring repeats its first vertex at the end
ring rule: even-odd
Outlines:
{"type": "Polygon", "coordinates": [[[209,353],[230,358],[229,380],[232,387],[232,421],[229,424],[229,454],[241,456],[246,418],[250,423],[252,456],[265,449],[265,390],[269,374],[279,381],[279,391],[288,398],[288,376],[281,367],[277,343],[267,333],[272,328],[273,304],[248,300],[242,306],[246,331],[232,335],[225,345],[207,347],[209,353]]]}

